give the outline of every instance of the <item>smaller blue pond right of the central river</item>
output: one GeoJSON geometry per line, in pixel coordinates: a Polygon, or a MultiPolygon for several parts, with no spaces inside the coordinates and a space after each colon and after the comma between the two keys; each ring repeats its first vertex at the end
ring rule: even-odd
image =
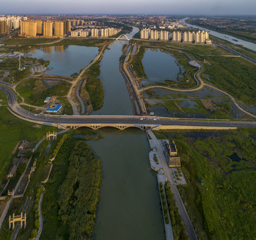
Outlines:
{"type": "Polygon", "coordinates": [[[142,59],[147,79],[142,80],[143,85],[162,83],[165,80],[178,81],[181,68],[175,57],[159,49],[147,49],[142,59]]]}

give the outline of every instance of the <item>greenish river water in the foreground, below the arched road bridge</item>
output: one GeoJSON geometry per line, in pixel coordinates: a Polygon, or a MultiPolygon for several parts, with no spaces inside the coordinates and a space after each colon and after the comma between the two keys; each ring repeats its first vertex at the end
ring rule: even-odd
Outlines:
{"type": "Polygon", "coordinates": [[[164,240],[156,173],[144,131],[104,128],[88,141],[102,163],[102,186],[92,239],[164,240]]]}

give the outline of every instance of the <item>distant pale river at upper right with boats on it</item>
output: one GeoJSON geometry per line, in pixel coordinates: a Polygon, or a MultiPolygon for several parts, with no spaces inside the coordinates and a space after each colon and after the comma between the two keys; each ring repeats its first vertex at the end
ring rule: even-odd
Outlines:
{"type": "Polygon", "coordinates": [[[197,25],[190,25],[188,23],[185,23],[186,19],[188,19],[188,17],[182,19],[180,22],[185,24],[185,25],[187,25],[188,27],[193,27],[193,28],[209,31],[209,34],[213,35],[214,37],[219,37],[220,39],[224,39],[224,40],[229,41],[229,42],[231,42],[233,44],[243,45],[243,47],[247,47],[247,49],[251,49],[253,51],[256,51],[256,44],[255,43],[251,43],[249,41],[245,41],[245,40],[239,39],[237,37],[233,37],[231,35],[227,35],[227,34],[223,34],[223,33],[218,33],[217,31],[206,29],[205,27],[199,27],[197,25]],[[229,38],[227,38],[225,36],[227,36],[229,38]],[[233,41],[232,39],[235,39],[237,41],[233,41]]]}

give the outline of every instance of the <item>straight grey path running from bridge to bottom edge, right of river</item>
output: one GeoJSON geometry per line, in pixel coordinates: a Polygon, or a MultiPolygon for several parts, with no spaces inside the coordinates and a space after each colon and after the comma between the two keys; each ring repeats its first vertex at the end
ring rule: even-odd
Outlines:
{"type": "Polygon", "coordinates": [[[188,213],[186,213],[186,209],[185,209],[184,203],[180,197],[180,193],[178,193],[178,189],[174,183],[174,180],[172,179],[172,175],[170,173],[170,168],[167,165],[166,157],[164,156],[164,151],[162,149],[162,146],[160,145],[160,141],[158,141],[158,139],[156,138],[156,136],[154,135],[154,133],[151,130],[148,130],[148,135],[151,137],[151,139],[154,141],[154,143],[156,145],[156,149],[158,151],[158,156],[160,158],[160,162],[162,165],[162,169],[164,171],[164,175],[166,176],[167,181],[170,182],[170,190],[174,194],[174,199],[176,201],[176,205],[178,207],[178,211],[180,213],[180,217],[182,218],[182,222],[184,224],[186,232],[188,233],[190,240],[197,240],[197,235],[196,235],[193,225],[188,217],[188,213]]]}

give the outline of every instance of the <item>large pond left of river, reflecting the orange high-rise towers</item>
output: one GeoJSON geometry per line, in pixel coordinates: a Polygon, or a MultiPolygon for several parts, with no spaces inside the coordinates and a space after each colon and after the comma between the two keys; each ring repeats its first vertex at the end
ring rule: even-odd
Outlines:
{"type": "Polygon", "coordinates": [[[80,73],[94,60],[98,54],[98,47],[85,47],[76,45],[60,45],[32,49],[31,57],[50,61],[48,67],[52,69],[45,74],[70,77],[73,73],[80,73]]]}

